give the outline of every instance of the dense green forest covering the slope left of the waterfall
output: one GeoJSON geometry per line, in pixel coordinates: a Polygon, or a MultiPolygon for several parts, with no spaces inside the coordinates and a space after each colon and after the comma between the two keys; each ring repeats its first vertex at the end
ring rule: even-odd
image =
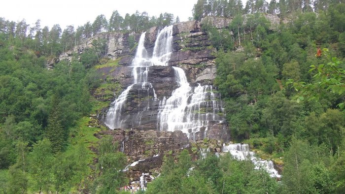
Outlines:
{"type": "Polygon", "coordinates": [[[49,40],[36,42],[40,32],[47,32],[38,23],[33,39],[21,29],[23,22],[8,31],[8,24],[15,23],[3,21],[0,171],[5,178],[0,181],[0,193],[81,191],[91,174],[88,165],[93,154],[90,141],[73,133],[81,117],[91,111],[89,91],[99,85],[99,78],[95,79],[99,75],[75,60],[46,68],[47,61],[61,52],[63,37],[56,26],[46,36],[49,40]],[[80,141],[71,140],[70,134],[80,141]]]}

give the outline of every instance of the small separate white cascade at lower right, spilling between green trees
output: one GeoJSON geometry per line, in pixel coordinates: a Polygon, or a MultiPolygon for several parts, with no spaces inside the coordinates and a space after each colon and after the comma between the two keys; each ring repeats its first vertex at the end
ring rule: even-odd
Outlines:
{"type": "Polygon", "coordinates": [[[254,152],[249,150],[248,144],[235,143],[229,144],[228,146],[223,145],[222,151],[229,152],[235,159],[240,161],[251,160],[255,165],[255,169],[263,168],[271,177],[281,177],[281,175],[278,174],[278,171],[274,168],[273,162],[256,158],[254,152]]]}

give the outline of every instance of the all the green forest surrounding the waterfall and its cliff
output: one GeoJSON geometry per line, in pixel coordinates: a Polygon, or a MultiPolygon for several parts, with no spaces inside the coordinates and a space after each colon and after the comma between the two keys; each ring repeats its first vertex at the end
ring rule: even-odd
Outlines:
{"type": "MultiPolygon", "coordinates": [[[[206,16],[231,19],[227,28],[202,30],[216,48],[214,84],[232,141],[283,165],[282,178],[230,154],[192,160],[182,150],[167,155],[161,175],[138,193],[345,193],[344,1],[197,0],[190,19],[206,16]],[[267,15],[280,24],[272,28],[267,15]]],[[[87,127],[89,115],[108,106],[90,93],[102,86],[104,43],[80,60],[45,65],[99,33],[175,22],[170,13],[115,10],[109,20],[100,15],[62,31],[0,18],[0,194],[126,193],[119,190],[128,184],[126,156],[87,127]]]]}

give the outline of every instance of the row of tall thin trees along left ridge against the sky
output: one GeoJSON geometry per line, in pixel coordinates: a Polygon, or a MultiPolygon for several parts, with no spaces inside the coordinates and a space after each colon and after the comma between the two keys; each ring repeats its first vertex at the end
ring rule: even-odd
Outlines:
{"type": "Polygon", "coordinates": [[[0,17],[0,33],[4,38],[19,38],[25,45],[41,55],[59,55],[69,50],[82,40],[102,32],[142,32],[154,26],[168,26],[179,22],[171,13],[161,13],[159,17],[150,17],[147,12],[126,14],[122,17],[117,10],[113,11],[110,19],[99,15],[93,23],[87,22],[83,26],[67,26],[64,30],[59,24],[51,29],[41,27],[38,19],[34,26],[26,23],[25,19],[14,22],[0,17]]]}

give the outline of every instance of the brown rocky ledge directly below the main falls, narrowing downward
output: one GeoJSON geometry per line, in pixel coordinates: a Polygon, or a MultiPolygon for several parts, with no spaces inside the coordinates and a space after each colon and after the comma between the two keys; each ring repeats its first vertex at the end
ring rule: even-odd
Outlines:
{"type": "Polygon", "coordinates": [[[126,154],[128,164],[138,162],[125,169],[130,181],[138,181],[141,173],[158,174],[164,155],[191,147],[186,134],[181,131],[114,129],[95,135],[101,138],[105,134],[119,143],[119,151],[126,154]]]}

